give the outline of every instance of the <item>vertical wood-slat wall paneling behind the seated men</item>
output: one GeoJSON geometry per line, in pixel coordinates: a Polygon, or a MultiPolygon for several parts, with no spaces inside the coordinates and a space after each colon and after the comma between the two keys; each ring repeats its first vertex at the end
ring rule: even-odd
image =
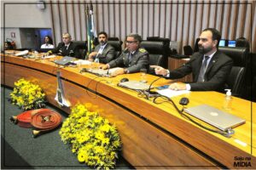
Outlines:
{"type": "Polygon", "coordinates": [[[255,1],[49,1],[55,43],[61,33],[69,32],[75,40],[86,40],[85,8],[92,4],[96,31],[109,37],[137,32],[147,37],[167,37],[184,45],[195,45],[203,29],[215,27],[222,38],[246,37],[256,52],[255,1]]]}

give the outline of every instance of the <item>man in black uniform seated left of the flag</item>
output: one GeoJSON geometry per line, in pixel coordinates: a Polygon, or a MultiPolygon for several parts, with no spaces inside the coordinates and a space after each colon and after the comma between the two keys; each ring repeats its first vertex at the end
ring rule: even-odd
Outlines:
{"type": "Polygon", "coordinates": [[[80,59],[82,56],[79,53],[79,48],[75,47],[74,43],[71,41],[71,36],[69,33],[62,34],[62,41],[57,46],[50,50],[49,54],[58,54],[63,56],[75,57],[80,59]]]}

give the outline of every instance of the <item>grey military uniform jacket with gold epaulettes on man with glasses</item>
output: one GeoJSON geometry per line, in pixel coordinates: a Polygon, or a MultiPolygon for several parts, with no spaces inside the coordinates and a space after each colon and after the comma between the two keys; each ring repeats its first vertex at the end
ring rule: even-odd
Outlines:
{"type": "Polygon", "coordinates": [[[129,51],[124,50],[119,58],[112,60],[108,65],[113,67],[125,67],[129,73],[139,72],[142,68],[148,70],[149,67],[149,54],[144,48],[139,48],[133,54],[129,62],[129,51]]]}

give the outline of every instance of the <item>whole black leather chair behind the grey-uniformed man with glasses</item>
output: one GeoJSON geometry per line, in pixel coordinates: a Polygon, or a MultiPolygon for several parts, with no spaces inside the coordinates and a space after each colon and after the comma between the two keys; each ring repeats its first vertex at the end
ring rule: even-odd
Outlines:
{"type": "MultiPolygon", "coordinates": [[[[167,56],[165,56],[164,42],[143,41],[141,47],[148,51],[149,65],[160,65],[165,67],[163,58],[167,58],[167,56]]],[[[149,69],[149,73],[154,74],[154,69],[149,69]]]]}

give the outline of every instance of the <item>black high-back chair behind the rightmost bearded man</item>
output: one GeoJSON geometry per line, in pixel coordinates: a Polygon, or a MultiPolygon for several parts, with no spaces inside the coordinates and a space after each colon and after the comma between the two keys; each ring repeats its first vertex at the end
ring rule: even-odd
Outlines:
{"type": "Polygon", "coordinates": [[[230,88],[232,95],[243,97],[245,92],[242,87],[245,86],[248,49],[219,47],[218,50],[228,55],[234,62],[228,80],[226,81],[225,88],[230,88]]]}

